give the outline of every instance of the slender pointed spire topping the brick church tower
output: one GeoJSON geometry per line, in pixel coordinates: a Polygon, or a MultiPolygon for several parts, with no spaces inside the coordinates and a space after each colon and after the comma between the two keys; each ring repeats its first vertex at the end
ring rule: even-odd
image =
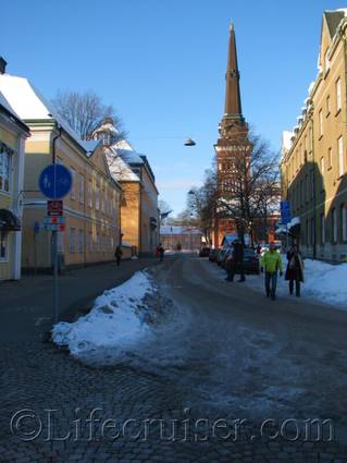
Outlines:
{"type": "Polygon", "coordinates": [[[239,72],[237,65],[236,38],[234,24],[230,27],[228,57],[226,71],[225,115],[231,119],[244,120],[241,97],[239,92],[239,72]]]}

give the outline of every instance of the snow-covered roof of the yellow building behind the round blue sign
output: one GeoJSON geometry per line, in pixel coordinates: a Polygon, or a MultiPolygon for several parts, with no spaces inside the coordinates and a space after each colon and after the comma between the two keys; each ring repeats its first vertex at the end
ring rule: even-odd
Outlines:
{"type": "Polygon", "coordinates": [[[46,100],[27,78],[0,74],[0,92],[24,121],[55,121],[86,151],[94,150],[100,143],[99,141],[82,141],[79,135],[59,115],[54,106],[46,100]]]}

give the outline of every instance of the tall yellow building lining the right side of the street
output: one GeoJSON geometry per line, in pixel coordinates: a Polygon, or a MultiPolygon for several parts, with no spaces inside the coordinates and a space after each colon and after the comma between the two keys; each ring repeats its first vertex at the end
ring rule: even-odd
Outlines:
{"type": "Polygon", "coordinates": [[[323,14],[319,73],[293,132],[285,132],[282,195],[306,256],[347,258],[347,10],[323,14]]]}

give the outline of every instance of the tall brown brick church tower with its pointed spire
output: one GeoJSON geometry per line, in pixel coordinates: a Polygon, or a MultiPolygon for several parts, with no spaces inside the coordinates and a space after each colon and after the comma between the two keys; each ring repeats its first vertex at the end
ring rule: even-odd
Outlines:
{"type": "MultiPolygon", "coordinates": [[[[235,180],[234,160],[236,156],[249,153],[251,144],[248,139],[248,124],[243,117],[239,90],[239,71],[237,65],[236,39],[233,23],[230,28],[228,58],[226,71],[225,110],[219,125],[219,138],[214,145],[216,156],[216,179],[219,195],[227,193],[231,198],[233,181],[235,180]]],[[[213,244],[220,247],[223,236],[236,233],[235,222],[223,217],[218,211],[213,224],[213,244]]]]}

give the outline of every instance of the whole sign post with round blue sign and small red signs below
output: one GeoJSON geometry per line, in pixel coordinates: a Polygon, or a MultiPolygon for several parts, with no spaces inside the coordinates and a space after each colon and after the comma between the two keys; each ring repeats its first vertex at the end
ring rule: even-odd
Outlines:
{"type": "Polygon", "coordinates": [[[39,175],[38,186],[41,193],[48,197],[46,230],[52,231],[52,261],[53,261],[53,287],[54,287],[54,322],[59,319],[59,288],[58,288],[58,232],[65,230],[63,217],[63,202],[61,200],[72,187],[72,175],[65,166],[52,163],[39,175]],[[60,220],[58,220],[60,219],[60,220]]]}

